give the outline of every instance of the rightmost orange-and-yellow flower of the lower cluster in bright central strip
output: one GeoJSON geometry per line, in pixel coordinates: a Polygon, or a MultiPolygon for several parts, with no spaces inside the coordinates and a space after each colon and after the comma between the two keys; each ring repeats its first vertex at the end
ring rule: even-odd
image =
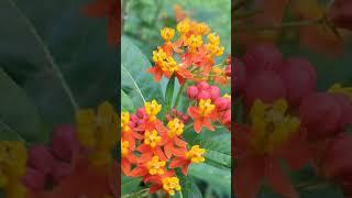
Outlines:
{"type": "Polygon", "coordinates": [[[188,166],[191,163],[199,164],[206,161],[202,156],[205,153],[205,148],[201,148],[199,145],[194,145],[189,151],[178,154],[178,156],[169,163],[169,167],[180,167],[183,174],[187,175],[188,166]]]}

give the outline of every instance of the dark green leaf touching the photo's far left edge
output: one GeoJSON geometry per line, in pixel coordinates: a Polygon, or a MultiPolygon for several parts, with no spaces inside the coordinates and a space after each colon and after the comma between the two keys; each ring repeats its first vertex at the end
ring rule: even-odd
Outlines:
{"type": "Polygon", "coordinates": [[[0,136],[25,142],[43,140],[36,107],[25,92],[0,68],[0,136]]]}

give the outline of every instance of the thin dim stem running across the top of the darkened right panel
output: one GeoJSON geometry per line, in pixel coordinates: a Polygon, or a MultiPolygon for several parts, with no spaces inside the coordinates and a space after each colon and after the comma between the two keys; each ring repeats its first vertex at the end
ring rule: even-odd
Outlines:
{"type": "Polygon", "coordinates": [[[237,31],[277,31],[282,29],[292,29],[292,28],[298,28],[298,26],[310,26],[310,25],[319,25],[323,22],[323,19],[317,19],[317,20],[309,20],[309,21],[292,21],[292,22],[285,22],[277,25],[261,25],[261,26],[238,26],[237,31]]]}

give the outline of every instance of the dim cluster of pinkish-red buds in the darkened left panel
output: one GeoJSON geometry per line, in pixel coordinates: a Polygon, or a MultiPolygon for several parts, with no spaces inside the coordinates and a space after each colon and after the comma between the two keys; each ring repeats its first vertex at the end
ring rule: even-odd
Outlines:
{"type": "Polygon", "coordinates": [[[80,145],[73,125],[61,125],[54,130],[52,145],[35,145],[29,152],[25,186],[34,191],[57,185],[73,169],[80,145]]]}

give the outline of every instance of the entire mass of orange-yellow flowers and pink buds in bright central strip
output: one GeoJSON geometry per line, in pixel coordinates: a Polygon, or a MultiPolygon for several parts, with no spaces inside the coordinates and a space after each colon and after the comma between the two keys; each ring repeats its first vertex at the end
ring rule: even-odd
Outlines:
{"type": "Polygon", "coordinates": [[[160,33],[164,43],[152,52],[154,65],[146,73],[155,82],[177,79],[186,87],[178,95],[185,96],[188,108],[183,112],[176,102],[167,108],[152,99],[135,114],[121,112],[121,168],[125,176],[142,177],[151,194],[174,196],[183,189],[179,174],[188,175],[190,164],[207,161],[207,148],[184,135],[215,131],[217,123],[231,128],[231,98],[220,90],[229,85],[231,70],[229,57],[215,64],[224,47],[208,24],[185,18],[176,29],[163,28],[160,33]]]}

